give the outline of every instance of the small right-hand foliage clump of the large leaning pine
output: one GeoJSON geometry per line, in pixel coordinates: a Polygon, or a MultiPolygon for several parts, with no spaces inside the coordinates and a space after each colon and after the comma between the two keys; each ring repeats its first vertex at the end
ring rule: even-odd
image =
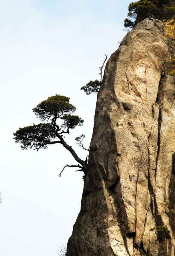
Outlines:
{"type": "Polygon", "coordinates": [[[73,129],[75,128],[77,125],[78,126],[82,126],[84,120],[82,120],[80,117],[78,116],[73,116],[73,115],[65,115],[63,117],[61,117],[61,119],[64,120],[64,123],[61,125],[62,128],[70,128],[73,129]]]}

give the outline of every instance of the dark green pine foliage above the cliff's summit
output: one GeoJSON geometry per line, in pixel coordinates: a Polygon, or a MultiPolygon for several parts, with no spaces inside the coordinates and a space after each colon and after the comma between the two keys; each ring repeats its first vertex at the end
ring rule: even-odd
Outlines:
{"type": "Polygon", "coordinates": [[[132,2],[128,7],[128,18],[124,21],[124,26],[133,28],[137,15],[141,20],[154,18],[166,22],[175,19],[175,7],[172,0],[141,0],[132,2]]]}

